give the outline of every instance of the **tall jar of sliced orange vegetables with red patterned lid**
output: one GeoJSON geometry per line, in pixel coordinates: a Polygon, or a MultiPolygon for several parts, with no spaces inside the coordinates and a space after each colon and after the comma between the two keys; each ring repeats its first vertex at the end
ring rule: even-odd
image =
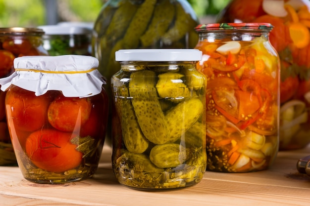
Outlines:
{"type": "Polygon", "coordinates": [[[267,169],[278,151],[279,57],[267,23],[196,27],[207,77],[207,169],[267,169]]]}

